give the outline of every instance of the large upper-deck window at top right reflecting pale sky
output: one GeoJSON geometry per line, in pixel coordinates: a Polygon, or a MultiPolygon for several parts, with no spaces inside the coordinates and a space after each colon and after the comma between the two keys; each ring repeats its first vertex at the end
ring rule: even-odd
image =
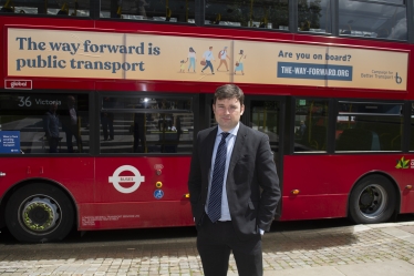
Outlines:
{"type": "Polygon", "coordinates": [[[342,35],[407,40],[403,0],[339,1],[339,33],[342,35]]]}

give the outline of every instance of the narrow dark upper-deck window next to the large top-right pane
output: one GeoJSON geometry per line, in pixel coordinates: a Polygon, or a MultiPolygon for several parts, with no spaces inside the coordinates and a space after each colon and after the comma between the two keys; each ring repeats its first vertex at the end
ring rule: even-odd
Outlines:
{"type": "Polygon", "coordinates": [[[298,30],[331,33],[331,6],[325,0],[298,1],[298,30]]]}

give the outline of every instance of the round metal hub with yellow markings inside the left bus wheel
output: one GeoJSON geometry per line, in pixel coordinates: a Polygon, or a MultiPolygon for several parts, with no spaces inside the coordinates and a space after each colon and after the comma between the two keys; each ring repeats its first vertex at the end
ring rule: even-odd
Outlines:
{"type": "Polygon", "coordinates": [[[34,197],[22,211],[24,225],[35,232],[52,228],[59,218],[58,207],[49,198],[34,197]]]}

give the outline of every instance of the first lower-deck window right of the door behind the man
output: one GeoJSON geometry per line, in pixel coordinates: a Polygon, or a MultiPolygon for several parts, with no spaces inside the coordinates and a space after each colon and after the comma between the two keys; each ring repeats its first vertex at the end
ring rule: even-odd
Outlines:
{"type": "Polygon", "coordinates": [[[327,152],[328,101],[297,99],[294,152],[327,152]]]}

